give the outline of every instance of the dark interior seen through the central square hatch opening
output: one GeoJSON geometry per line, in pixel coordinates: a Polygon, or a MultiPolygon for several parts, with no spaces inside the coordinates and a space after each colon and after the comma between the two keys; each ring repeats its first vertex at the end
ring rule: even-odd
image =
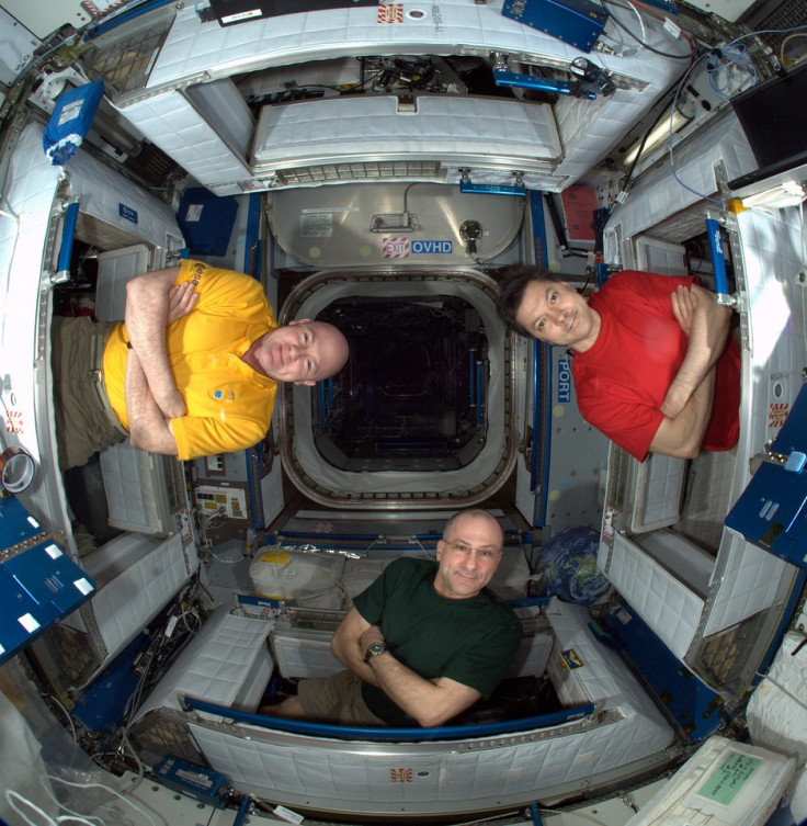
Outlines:
{"type": "Polygon", "coordinates": [[[315,441],[349,471],[445,471],[485,444],[488,340],[478,312],[455,296],[351,297],[320,313],[345,331],[338,383],[312,394],[315,441]]]}

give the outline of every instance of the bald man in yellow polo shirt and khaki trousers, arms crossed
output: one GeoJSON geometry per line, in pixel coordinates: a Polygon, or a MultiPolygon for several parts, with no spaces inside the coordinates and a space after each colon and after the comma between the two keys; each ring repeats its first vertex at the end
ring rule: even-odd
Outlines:
{"type": "Polygon", "coordinates": [[[128,282],[123,323],[54,318],[53,344],[62,469],[126,435],[181,460],[250,448],[277,382],[314,385],[348,359],[332,325],[279,327],[258,281],[198,261],[128,282]]]}

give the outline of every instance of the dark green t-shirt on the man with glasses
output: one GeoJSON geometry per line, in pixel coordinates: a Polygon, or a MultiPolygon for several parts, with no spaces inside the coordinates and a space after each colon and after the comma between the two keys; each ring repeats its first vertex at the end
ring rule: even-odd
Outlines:
{"type": "MultiPolygon", "coordinates": [[[[469,599],[434,590],[437,564],[400,558],[353,600],[378,625],[395,658],[427,680],[447,677],[489,697],[522,636],[519,618],[487,588],[469,599]]],[[[416,725],[380,689],[365,682],[364,702],[390,725],[416,725]]]]}

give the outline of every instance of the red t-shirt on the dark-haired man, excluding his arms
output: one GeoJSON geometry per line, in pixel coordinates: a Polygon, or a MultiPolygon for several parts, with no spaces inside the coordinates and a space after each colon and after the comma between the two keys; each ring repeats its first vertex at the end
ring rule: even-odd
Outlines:
{"type": "MultiPolygon", "coordinates": [[[[594,346],[575,353],[571,371],[583,418],[640,462],[664,418],[659,410],[686,354],[689,338],[670,294],[696,279],[625,270],[589,298],[602,318],[594,346]]],[[[717,361],[705,450],[729,450],[740,434],[740,349],[729,338],[717,361]]]]}

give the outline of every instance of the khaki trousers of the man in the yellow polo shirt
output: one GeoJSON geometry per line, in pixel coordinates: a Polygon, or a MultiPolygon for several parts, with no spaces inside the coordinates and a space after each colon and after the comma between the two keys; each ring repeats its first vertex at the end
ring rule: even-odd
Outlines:
{"type": "Polygon", "coordinates": [[[54,418],[62,471],[83,465],[93,453],[126,439],[123,426],[113,422],[101,401],[93,372],[100,367],[93,361],[95,353],[103,353],[111,327],[84,316],[52,320],[54,418]]]}

